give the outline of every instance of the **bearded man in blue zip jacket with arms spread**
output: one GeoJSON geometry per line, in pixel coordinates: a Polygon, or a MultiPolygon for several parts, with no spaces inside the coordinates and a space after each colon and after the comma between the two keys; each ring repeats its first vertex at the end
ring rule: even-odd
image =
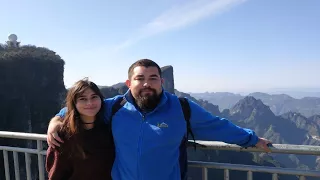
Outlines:
{"type": "MultiPolygon", "coordinates": [[[[127,101],[112,117],[116,147],[112,177],[115,180],[179,180],[179,146],[186,134],[186,121],[179,99],[162,88],[160,67],[149,59],[132,64],[123,96],[106,99],[105,116],[111,118],[112,105],[125,97],[127,101]]],[[[270,151],[270,142],[252,130],[238,127],[226,119],[211,115],[194,102],[190,124],[198,140],[223,141],[243,147],[256,146],[270,151]]],[[[48,128],[49,145],[59,145],[56,129],[66,109],[54,117],[48,128]]]]}

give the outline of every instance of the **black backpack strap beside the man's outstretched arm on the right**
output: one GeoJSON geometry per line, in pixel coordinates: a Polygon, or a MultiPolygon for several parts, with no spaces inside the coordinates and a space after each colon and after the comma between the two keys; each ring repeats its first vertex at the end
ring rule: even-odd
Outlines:
{"type": "Polygon", "coordinates": [[[192,132],[191,124],[190,124],[191,109],[190,109],[190,105],[189,105],[188,99],[184,98],[184,97],[179,97],[179,101],[180,101],[180,104],[181,104],[181,107],[182,107],[184,119],[185,119],[185,121],[187,123],[187,141],[189,139],[188,137],[189,137],[189,134],[190,134],[192,136],[193,141],[194,141],[193,146],[196,149],[196,142],[195,142],[194,134],[192,132]]]}

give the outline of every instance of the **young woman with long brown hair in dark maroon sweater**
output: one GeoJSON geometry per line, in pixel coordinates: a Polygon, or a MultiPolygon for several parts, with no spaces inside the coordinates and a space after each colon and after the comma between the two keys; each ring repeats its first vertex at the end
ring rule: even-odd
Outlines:
{"type": "Polygon", "coordinates": [[[76,82],[68,91],[66,107],[59,131],[64,143],[47,151],[49,180],[111,179],[115,150],[99,88],[87,79],[76,82]]]}

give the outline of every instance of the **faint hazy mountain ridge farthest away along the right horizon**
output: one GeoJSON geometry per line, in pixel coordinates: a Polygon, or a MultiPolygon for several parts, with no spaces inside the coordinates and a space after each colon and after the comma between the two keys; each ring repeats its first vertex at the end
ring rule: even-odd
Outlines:
{"type": "MultiPolygon", "coordinates": [[[[195,98],[207,100],[212,104],[218,105],[220,107],[220,111],[223,109],[230,109],[239,100],[246,97],[229,92],[191,93],[191,95],[195,98]]],[[[271,111],[275,115],[281,115],[287,112],[301,113],[306,117],[320,115],[319,97],[304,97],[296,99],[287,94],[267,94],[261,92],[251,93],[247,96],[260,99],[265,105],[270,107],[271,111]]]]}

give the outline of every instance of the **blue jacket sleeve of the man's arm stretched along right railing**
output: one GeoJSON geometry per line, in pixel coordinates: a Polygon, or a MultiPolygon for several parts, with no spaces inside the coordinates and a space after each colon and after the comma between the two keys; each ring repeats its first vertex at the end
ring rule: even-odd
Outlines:
{"type": "Polygon", "coordinates": [[[258,137],[254,131],[236,126],[228,119],[213,116],[195,102],[188,100],[190,125],[196,140],[222,141],[242,147],[254,146],[258,137]]]}

